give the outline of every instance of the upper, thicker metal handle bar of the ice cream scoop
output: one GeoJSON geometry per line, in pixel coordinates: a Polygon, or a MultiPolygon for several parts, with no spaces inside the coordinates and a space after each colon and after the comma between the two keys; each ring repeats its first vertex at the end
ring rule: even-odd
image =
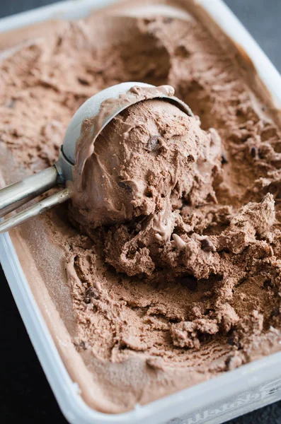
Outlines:
{"type": "Polygon", "coordinates": [[[0,190],[0,218],[55,187],[60,178],[55,165],[0,190]]]}

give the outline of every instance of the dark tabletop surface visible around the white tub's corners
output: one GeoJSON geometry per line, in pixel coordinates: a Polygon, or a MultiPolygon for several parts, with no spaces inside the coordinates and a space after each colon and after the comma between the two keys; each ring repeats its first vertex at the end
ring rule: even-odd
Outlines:
{"type": "MultiPolygon", "coordinates": [[[[210,0],[212,1],[212,0],[210,0]]],[[[0,0],[0,17],[56,3],[50,0],[0,0]]],[[[281,72],[280,0],[226,0],[236,16],[281,72]]],[[[47,383],[0,268],[0,422],[67,421],[47,383]]],[[[281,401],[228,424],[281,424],[281,401]]]]}

